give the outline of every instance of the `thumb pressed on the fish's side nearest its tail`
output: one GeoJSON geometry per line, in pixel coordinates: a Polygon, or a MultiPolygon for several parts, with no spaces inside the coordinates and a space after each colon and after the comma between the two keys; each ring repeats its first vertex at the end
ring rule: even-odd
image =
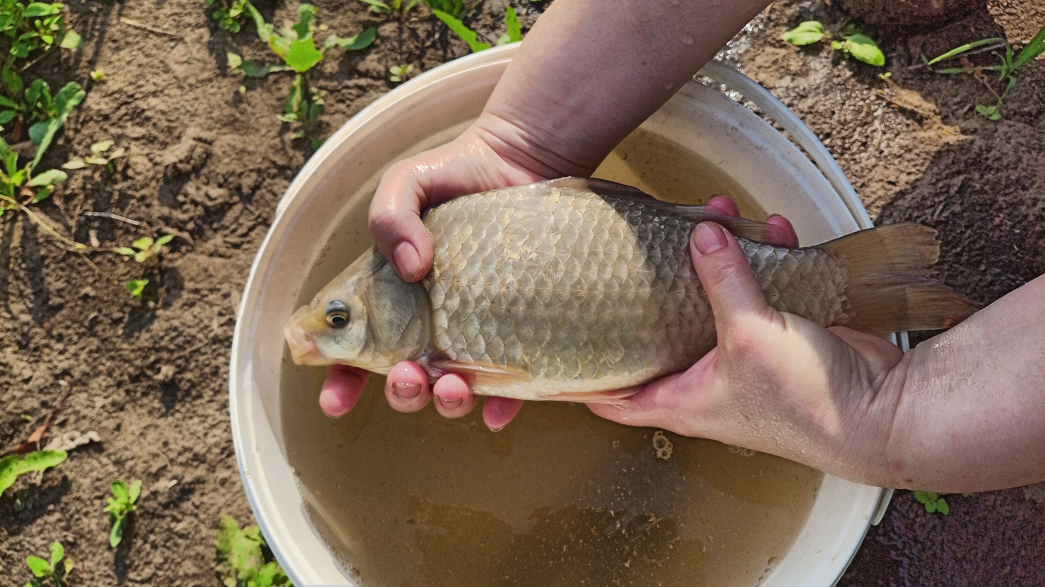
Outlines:
{"type": "Polygon", "coordinates": [[[738,318],[769,309],[744,251],[724,228],[715,222],[697,225],[690,237],[690,253],[720,336],[738,318]]]}

